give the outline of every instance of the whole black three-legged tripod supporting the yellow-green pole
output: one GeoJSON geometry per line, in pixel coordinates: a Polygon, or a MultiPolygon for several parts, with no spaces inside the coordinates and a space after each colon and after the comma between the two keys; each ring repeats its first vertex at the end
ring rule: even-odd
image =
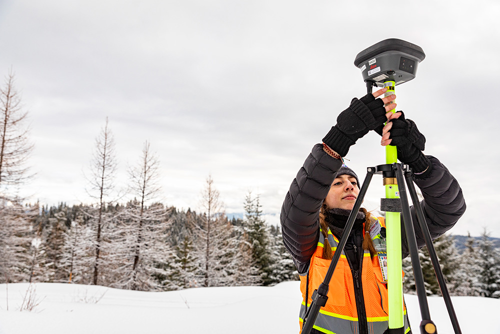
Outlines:
{"type": "MultiPolygon", "coordinates": [[[[379,165],[376,167],[367,168],[366,177],[362,184],[361,190],[359,191],[359,195],[354,203],[354,207],[352,208],[349,218],[347,219],[345,229],[340,237],[340,240],[334,252],[333,258],[331,259],[331,263],[328,267],[324,280],[321,284],[319,284],[319,287],[316,290],[314,290],[312,294],[311,305],[307,308],[307,311],[305,312],[305,316],[303,319],[302,334],[310,333],[320,307],[326,304],[326,300],[328,299],[326,295],[328,292],[328,284],[330,282],[331,276],[333,275],[333,271],[338,262],[338,259],[340,258],[340,254],[342,253],[345,243],[347,242],[347,237],[349,236],[352,226],[354,225],[354,219],[356,217],[357,212],[359,211],[359,208],[366,194],[366,191],[368,189],[373,174],[382,174],[384,178],[394,178],[395,176],[397,185],[399,187],[400,198],[383,199],[381,203],[381,210],[402,213],[404,228],[406,230],[406,239],[408,242],[408,248],[411,256],[411,265],[413,268],[416,292],[418,296],[418,302],[420,305],[420,313],[422,316],[422,321],[420,322],[421,334],[434,334],[437,333],[437,330],[434,323],[430,319],[430,312],[427,303],[427,296],[425,294],[422,268],[420,266],[420,261],[418,258],[418,247],[416,244],[415,231],[413,230],[413,223],[411,219],[411,213],[409,209],[408,196],[406,194],[406,186],[404,184],[404,179],[406,179],[407,189],[410,193],[413,206],[416,210],[415,212],[417,221],[418,224],[420,225],[422,235],[425,239],[425,244],[427,245],[427,249],[429,251],[430,258],[432,260],[432,266],[434,267],[434,272],[436,274],[437,281],[439,283],[439,288],[441,289],[441,293],[443,295],[444,302],[446,304],[446,308],[448,310],[448,314],[450,316],[454,332],[455,334],[461,334],[460,327],[458,326],[458,320],[456,318],[453,305],[451,304],[451,298],[449,296],[449,292],[446,287],[446,283],[444,281],[444,276],[442,274],[441,267],[439,266],[437,254],[435,252],[434,245],[432,244],[432,239],[430,237],[427,223],[425,222],[423,211],[418,201],[415,187],[413,185],[411,170],[407,165],[402,165],[399,163],[379,165]]],[[[388,334],[403,334],[404,326],[400,328],[388,328],[385,332],[388,334]]]]}

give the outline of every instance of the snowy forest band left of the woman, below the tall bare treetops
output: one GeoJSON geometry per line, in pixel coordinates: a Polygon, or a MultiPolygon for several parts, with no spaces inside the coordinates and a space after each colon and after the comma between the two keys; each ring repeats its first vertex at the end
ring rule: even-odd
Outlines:
{"type": "Polygon", "coordinates": [[[229,220],[217,210],[211,178],[204,190],[211,197],[201,214],[161,203],[141,206],[137,199],[102,207],[24,205],[8,237],[2,224],[0,283],[158,291],[297,279],[279,228],[262,219],[258,195],[248,193],[243,219],[229,220]]]}

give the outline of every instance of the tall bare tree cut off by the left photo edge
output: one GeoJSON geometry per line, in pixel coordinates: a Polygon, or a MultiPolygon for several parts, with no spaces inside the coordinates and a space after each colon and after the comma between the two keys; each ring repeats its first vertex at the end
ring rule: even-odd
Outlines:
{"type": "Polygon", "coordinates": [[[22,206],[17,190],[28,175],[32,150],[21,98],[9,71],[0,87],[0,281],[27,280],[30,213],[22,206]]]}

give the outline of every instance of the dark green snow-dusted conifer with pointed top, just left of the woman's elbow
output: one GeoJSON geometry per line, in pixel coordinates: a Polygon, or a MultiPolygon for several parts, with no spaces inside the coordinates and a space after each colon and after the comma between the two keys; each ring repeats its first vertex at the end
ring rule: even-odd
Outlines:
{"type": "MultiPolygon", "coordinates": [[[[252,198],[251,191],[246,194],[243,205],[245,215],[242,228],[244,236],[250,244],[251,261],[248,264],[253,263],[257,268],[262,285],[270,285],[277,283],[277,281],[271,278],[273,258],[269,240],[270,228],[262,218],[262,206],[259,197],[259,194],[257,194],[252,198]]],[[[243,251],[244,253],[245,251],[243,251]]]]}

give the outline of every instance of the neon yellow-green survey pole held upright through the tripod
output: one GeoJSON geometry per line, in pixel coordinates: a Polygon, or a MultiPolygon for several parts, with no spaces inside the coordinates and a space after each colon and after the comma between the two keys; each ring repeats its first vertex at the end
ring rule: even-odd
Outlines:
{"type": "MultiPolygon", "coordinates": [[[[385,81],[387,88],[385,97],[394,94],[394,81],[385,81]]],[[[392,102],[394,103],[394,102],[392,102]]],[[[392,111],[393,113],[395,110],[392,111]]],[[[397,162],[397,150],[395,146],[385,147],[385,163],[397,162]]],[[[385,198],[399,198],[399,191],[395,175],[384,177],[385,198]]],[[[401,264],[401,216],[399,212],[386,212],[385,228],[387,232],[387,284],[389,294],[389,328],[401,328],[404,326],[403,318],[403,284],[401,264]]]]}

